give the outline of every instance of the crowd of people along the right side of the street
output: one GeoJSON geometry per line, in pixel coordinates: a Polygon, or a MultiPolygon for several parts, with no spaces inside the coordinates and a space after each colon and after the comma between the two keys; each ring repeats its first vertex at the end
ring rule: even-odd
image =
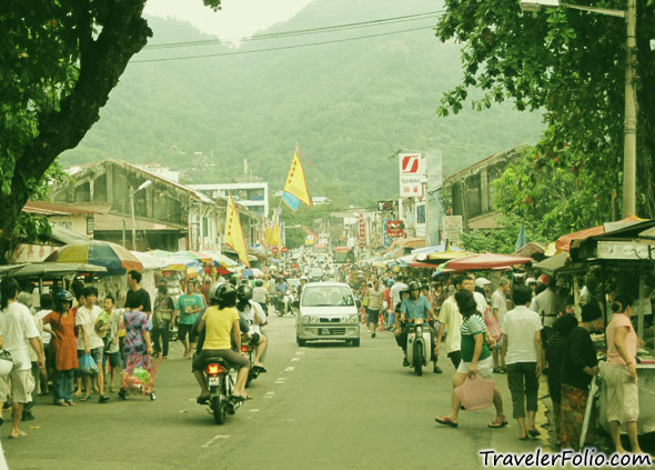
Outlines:
{"type": "MultiPolygon", "coordinates": [[[[422,318],[429,322],[433,371],[442,372],[437,366],[442,350],[455,370],[451,410],[437,416],[436,422],[458,426],[462,403],[454,389],[467,378],[493,381],[495,376],[497,381],[500,374],[506,374],[517,439],[536,438],[541,434],[535,423],[543,387],[540,378],[545,374],[556,443],[578,449],[587,402],[593,399],[591,382],[601,372],[598,354],[605,352],[606,419],[614,447],[625,452],[619,434],[625,424],[632,451],[641,452],[635,368],[639,342],[631,321],[629,297],[608,296],[605,328],[605,302],[585,288],[576,316],[573,297],[554,277],[501,277],[493,291],[491,281],[474,273],[409,279],[403,272],[349,266],[342,279],[362,302],[370,337],[375,338],[379,328],[394,331],[403,349],[403,366],[410,366],[405,354],[407,321],[422,318]],[[603,332],[606,351],[592,340],[593,333],[603,332]]],[[[507,426],[503,397],[495,386],[492,401],[496,416],[488,427],[507,426]]],[[[594,444],[597,412],[594,408],[584,446],[594,444]]]]}

